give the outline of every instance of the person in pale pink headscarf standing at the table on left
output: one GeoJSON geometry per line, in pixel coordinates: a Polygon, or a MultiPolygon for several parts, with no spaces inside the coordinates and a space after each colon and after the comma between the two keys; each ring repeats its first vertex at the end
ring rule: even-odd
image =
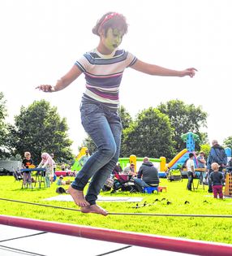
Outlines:
{"type": "Polygon", "coordinates": [[[49,188],[50,180],[54,177],[54,161],[48,153],[42,153],[41,158],[41,163],[37,168],[45,168],[45,184],[46,188],[49,188]]]}

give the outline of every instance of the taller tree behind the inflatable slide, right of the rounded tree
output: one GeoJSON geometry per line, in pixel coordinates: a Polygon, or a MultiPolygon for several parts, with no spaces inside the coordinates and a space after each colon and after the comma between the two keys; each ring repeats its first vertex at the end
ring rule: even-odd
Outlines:
{"type": "Polygon", "coordinates": [[[200,132],[201,127],[206,127],[207,119],[207,113],[202,111],[201,106],[195,107],[183,101],[171,100],[165,104],[161,103],[157,109],[170,118],[170,124],[174,128],[175,150],[183,150],[185,144],[181,135],[187,132],[194,132],[200,137],[200,141],[195,144],[195,150],[200,150],[200,144],[207,139],[205,133],[200,132]]]}

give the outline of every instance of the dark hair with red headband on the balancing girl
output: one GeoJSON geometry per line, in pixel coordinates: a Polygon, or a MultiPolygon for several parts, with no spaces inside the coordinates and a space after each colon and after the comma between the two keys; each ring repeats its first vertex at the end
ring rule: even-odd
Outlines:
{"type": "Polygon", "coordinates": [[[104,29],[106,36],[109,28],[118,28],[123,32],[123,35],[126,34],[128,28],[126,17],[117,12],[109,11],[105,13],[100,20],[97,20],[97,24],[92,28],[92,33],[100,36],[99,32],[101,29],[104,29]]]}

